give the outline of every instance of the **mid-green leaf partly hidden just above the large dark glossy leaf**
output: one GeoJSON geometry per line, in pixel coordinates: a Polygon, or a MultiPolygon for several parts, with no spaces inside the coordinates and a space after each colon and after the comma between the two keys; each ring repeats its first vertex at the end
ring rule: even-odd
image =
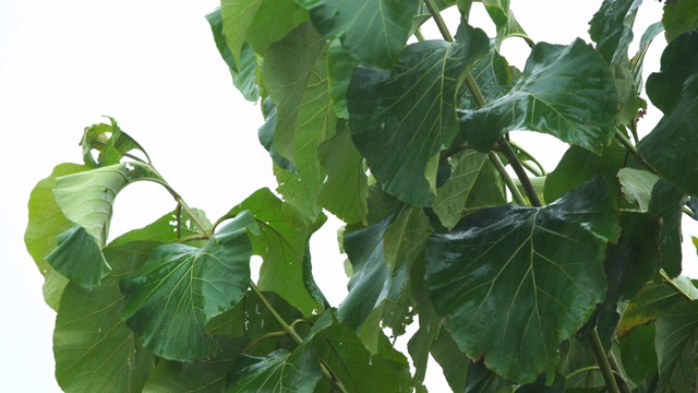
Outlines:
{"type": "Polygon", "coordinates": [[[617,172],[625,166],[628,152],[618,143],[611,143],[601,153],[601,157],[586,148],[570,146],[557,167],[547,174],[543,195],[545,201],[554,201],[575,187],[597,176],[606,178],[611,193],[621,192],[617,172]]]}

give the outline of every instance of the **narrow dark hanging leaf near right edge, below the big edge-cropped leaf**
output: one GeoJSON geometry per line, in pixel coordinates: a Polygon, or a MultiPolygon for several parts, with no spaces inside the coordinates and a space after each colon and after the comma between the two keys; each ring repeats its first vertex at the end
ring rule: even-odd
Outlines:
{"type": "Polygon", "coordinates": [[[649,212],[662,217],[661,254],[662,269],[670,277],[681,274],[682,235],[681,219],[684,215],[684,194],[674,186],[660,179],[652,189],[649,212]]]}

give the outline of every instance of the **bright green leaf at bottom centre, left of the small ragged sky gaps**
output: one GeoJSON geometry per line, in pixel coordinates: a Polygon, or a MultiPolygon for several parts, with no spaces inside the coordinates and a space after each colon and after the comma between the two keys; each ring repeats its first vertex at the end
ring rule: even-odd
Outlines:
{"type": "MultiPolygon", "coordinates": [[[[409,392],[411,377],[407,358],[381,334],[377,352],[371,355],[356,332],[326,311],[306,340],[312,340],[317,355],[324,359],[350,393],[409,392]]],[[[317,392],[332,392],[323,378],[317,392]]]]}

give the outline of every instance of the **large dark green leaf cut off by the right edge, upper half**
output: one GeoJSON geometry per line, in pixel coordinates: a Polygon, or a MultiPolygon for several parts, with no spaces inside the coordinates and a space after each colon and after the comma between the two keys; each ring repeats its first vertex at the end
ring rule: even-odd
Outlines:
{"type": "Polygon", "coordinates": [[[698,194],[698,31],[670,43],[662,67],[647,80],[647,94],[664,112],[654,130],[638,143],[645,159],[681,191],[698,194]]]}

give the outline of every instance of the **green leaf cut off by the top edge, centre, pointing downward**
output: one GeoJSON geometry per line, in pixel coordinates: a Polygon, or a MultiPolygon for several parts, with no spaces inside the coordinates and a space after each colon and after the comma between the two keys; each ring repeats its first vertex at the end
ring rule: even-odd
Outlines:
{"type": "Polygon", "coordinates": [[[339,37],[362,63],[390,68],[411,34],[418,0],[300,0],[324,38],[339,37]]]}

